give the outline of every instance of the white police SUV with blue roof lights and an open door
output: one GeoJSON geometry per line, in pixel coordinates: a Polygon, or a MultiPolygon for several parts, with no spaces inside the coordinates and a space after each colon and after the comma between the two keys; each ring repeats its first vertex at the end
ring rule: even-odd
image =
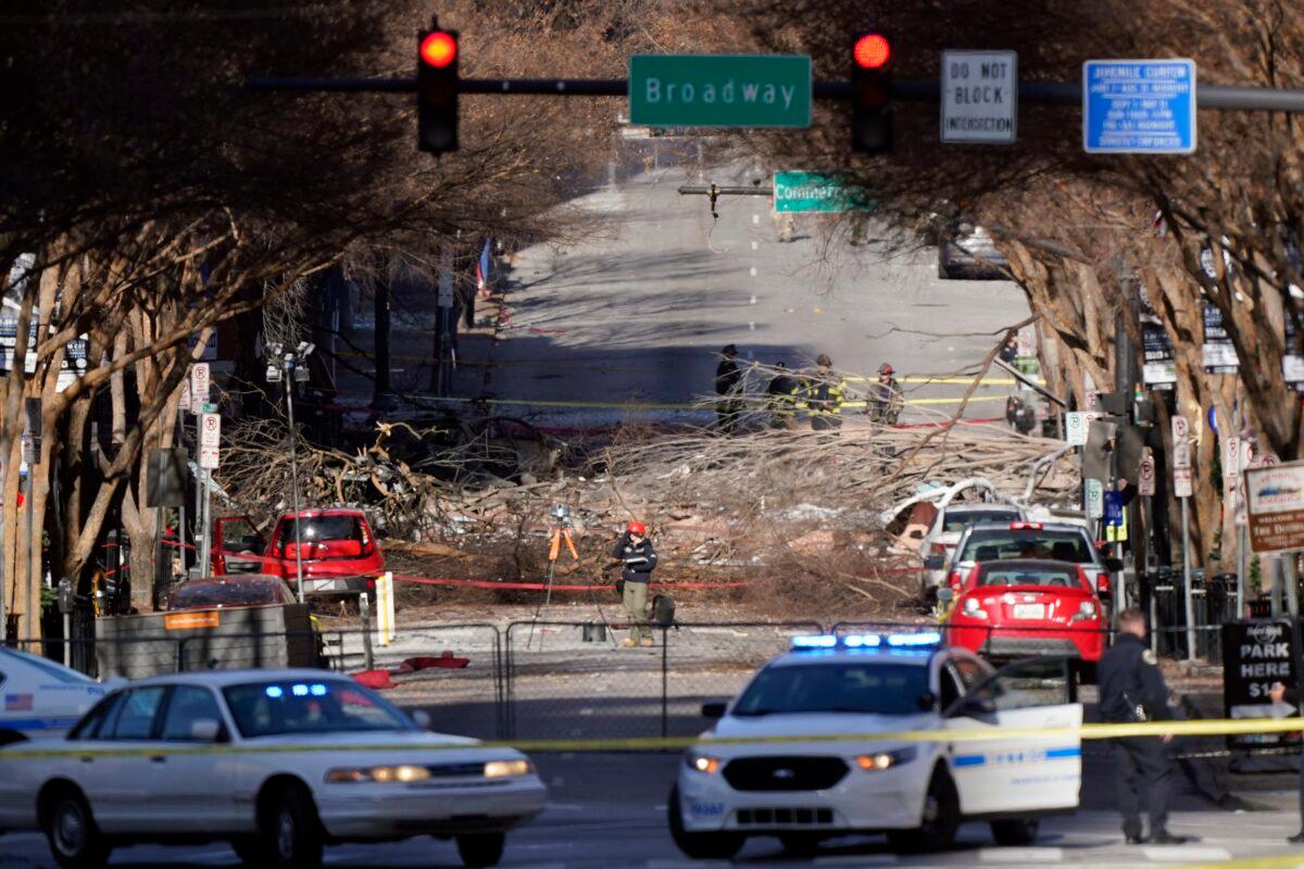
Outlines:
{"type": "Polygon", "coordinates": [[[999,844],[1028,844],[1038,817],[1074,810],[1078,736],[1001,734],[1081,724],[1064,662],[994,671],[940,642],[936,632],[794,637],[732,704],[704,705],[720,720],[685,756],[668,804],[679,849],[729,859],[754,835],[805,849],[861,833],[940,849],[979,819],[999,844]]]}

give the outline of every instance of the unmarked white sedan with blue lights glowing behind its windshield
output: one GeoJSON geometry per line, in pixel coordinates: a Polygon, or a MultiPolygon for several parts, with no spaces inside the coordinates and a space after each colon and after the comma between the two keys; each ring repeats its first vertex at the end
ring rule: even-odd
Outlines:
{"type": "Polygon", "coordinates": [[[134,842],[227,840],[250,866],[304,868],[326,843],[417,835],[489,866],[545,801],[520,752],[430,734],[318,670],[146,679],[63,741],[0,749],[0,829],[43,830],[78,869],[134,842]]]}

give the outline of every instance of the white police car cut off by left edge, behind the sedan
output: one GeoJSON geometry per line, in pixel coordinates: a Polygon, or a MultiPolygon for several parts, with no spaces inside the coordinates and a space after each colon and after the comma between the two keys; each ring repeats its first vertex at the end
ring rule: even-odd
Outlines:
{"type": "Polygon", "coordinates": [[[0,745],[61,736],[108,692],[76,670],[0,646],[0,745]]]}

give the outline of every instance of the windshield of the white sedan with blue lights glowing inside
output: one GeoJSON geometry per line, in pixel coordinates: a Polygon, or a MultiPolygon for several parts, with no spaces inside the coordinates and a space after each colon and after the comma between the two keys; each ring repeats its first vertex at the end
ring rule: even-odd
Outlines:
{"type": "Polygon", "coordinates": [[[222,694],[246,739],[419,730],[407,715],[353,681],[258,681],[223,688],[222,694]]]}

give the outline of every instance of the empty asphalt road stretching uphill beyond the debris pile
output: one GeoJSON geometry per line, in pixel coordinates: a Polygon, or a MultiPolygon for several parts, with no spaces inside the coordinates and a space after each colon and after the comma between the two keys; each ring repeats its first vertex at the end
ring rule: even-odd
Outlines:
{"type": "MultiPolygon", "coordinates": [[[[724,198],[713,219],[705,197],[681,184],[750,184],[768,171],[669,167],[635,175],[569,207],[595,219],[576,244],[518,251],[507,276],[507,319],[494,337],[464,335],[452,395],[486,397],[499,414],[537,425],[622,421],[709,422],[683,405],[712,392],[717,352],[739,361],[810,366],[828,353],[838,370],[872,374],[888,361],[905,375],[904,421],[949,414],[966,382],[927,383],[971,369],[991,332],[1028,315],[1007,281],[940,280],[934,248],[888,244],[871,223],[852,246],[832,218],[797,215],[780,241],[765,197],[724,198]],[[595,406],[608,405],[608,406],[595,406]],[[621,405],[621,406],[610,406],[621,405]]],[[[361,306],[336,371],[342,400],[370,397],[370,302],[361,306]]],[[[393,291],[393,386],[429,396],[434,294],[422,284],[393,291]]],[[[764,387],[756,377],[751,390],[764,387]]],[[[1008,377],[983,386],[966,417],[999,417],[1008,377]]]]}

